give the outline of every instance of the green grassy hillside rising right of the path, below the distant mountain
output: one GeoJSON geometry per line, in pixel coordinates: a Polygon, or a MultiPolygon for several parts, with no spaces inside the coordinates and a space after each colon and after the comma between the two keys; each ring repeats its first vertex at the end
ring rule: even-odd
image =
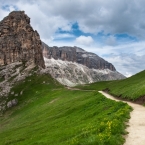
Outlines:
{"type": "Polygon", "coordinates": [[[115,96],[135,101],[145,96],[145,71],[142,71],[130,78],[110,82],[98,82],[87,86],[79,86],[81,89],[103,90],[108,88],[115,96]]]}

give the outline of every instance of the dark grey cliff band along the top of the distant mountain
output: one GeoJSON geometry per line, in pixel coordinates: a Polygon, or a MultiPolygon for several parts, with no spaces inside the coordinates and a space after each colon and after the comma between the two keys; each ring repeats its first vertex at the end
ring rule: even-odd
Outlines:
{"type": "Polygon", "coordinates": [[[43,47],[43,56],[45,58],[54,58],[65,61],[76,62],[82,65],[87,66],[88,68],[94,69],[109,69],[115,71],[115,67],[99,57],[94,53],[87,52],[78,47],[49,47],[45,43],[42,43],[43,47]]]}

